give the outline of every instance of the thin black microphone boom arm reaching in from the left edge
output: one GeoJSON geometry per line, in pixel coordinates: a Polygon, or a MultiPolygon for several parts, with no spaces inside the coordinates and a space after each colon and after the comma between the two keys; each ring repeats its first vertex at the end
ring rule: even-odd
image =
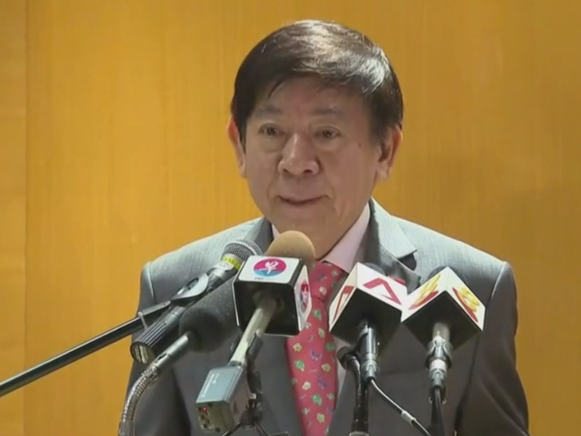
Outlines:
{"type": "Polygon", "coordinates": [[[26,386],[43,376],[51,374],[52,372],[57,371],[57,369],[70,365],[101,348],[139,332],[140,329],[147,327],[148,322],[159,318],[160,315],[165,312],[169,304],[169,301],[165,301],[164,303],[146,308],[144,311],[140,311],[132,320],[124,322],[117,327],[113,327],[113,329],[109,329],[106,332],[99,334],[99,336],[94,336],[94,338],[80,343],[79,345],[64,351],[64,353],[55,355],[54,357],[51,357],[20,374],[10,377],[10,379],[2,381],[0,383],[0,397],[7,395],[13,390],[22,388],[22,386],[26,386]]]}

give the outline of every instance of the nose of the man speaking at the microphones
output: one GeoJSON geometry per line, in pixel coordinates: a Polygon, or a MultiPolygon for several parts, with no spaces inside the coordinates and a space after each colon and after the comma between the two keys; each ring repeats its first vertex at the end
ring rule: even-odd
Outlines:
{"type": "Polygon", "coordinates": [[[314,144],[309,137],[300,133],[290,135],[283,148],[279,172],[303,176],[316,174],[318,170],[314,144]]]}

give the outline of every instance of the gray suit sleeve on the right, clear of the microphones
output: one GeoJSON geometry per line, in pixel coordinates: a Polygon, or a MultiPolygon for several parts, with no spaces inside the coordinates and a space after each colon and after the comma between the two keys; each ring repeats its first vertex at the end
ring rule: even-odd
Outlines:
{"type": "Polygon", "coordinates": [[[528,406],[517,372],[517,289],[506,262],[486,307],[472,374],[461,402],[458,436],[528,435],[528,406]]]}

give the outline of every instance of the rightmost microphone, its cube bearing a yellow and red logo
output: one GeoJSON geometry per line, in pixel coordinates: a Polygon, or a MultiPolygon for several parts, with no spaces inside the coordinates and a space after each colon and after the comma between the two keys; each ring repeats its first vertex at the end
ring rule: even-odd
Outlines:
{"type": "Polygon", "coordinates": [[[452,352],[484,329],[484,304],[449,266],[436,268],[410,293],[401,322],[428,348],[430,398],[435,390],[445,402],[452,352]]]}

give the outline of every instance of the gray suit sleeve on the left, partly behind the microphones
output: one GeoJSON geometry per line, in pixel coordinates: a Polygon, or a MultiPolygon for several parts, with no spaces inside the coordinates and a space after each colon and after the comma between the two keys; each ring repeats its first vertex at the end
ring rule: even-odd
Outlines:
{"type": "MultiPolygon", "coordinates": [[[[141,271],[138,311],[156,304],[149,264],[141,271]]],[[[139,334],[139,333],[137,333],[139,334]]],[[[134,337],[137,337],[137,334],[134,337]]],[[[146,365],[133,362],[127,393],[146,365]]],[[[160,376],[141,398],[135,414],[135,434],[139,436],[189,436],[190,429],[185,407],[176,386],[173,370],[160,376]]]]}

